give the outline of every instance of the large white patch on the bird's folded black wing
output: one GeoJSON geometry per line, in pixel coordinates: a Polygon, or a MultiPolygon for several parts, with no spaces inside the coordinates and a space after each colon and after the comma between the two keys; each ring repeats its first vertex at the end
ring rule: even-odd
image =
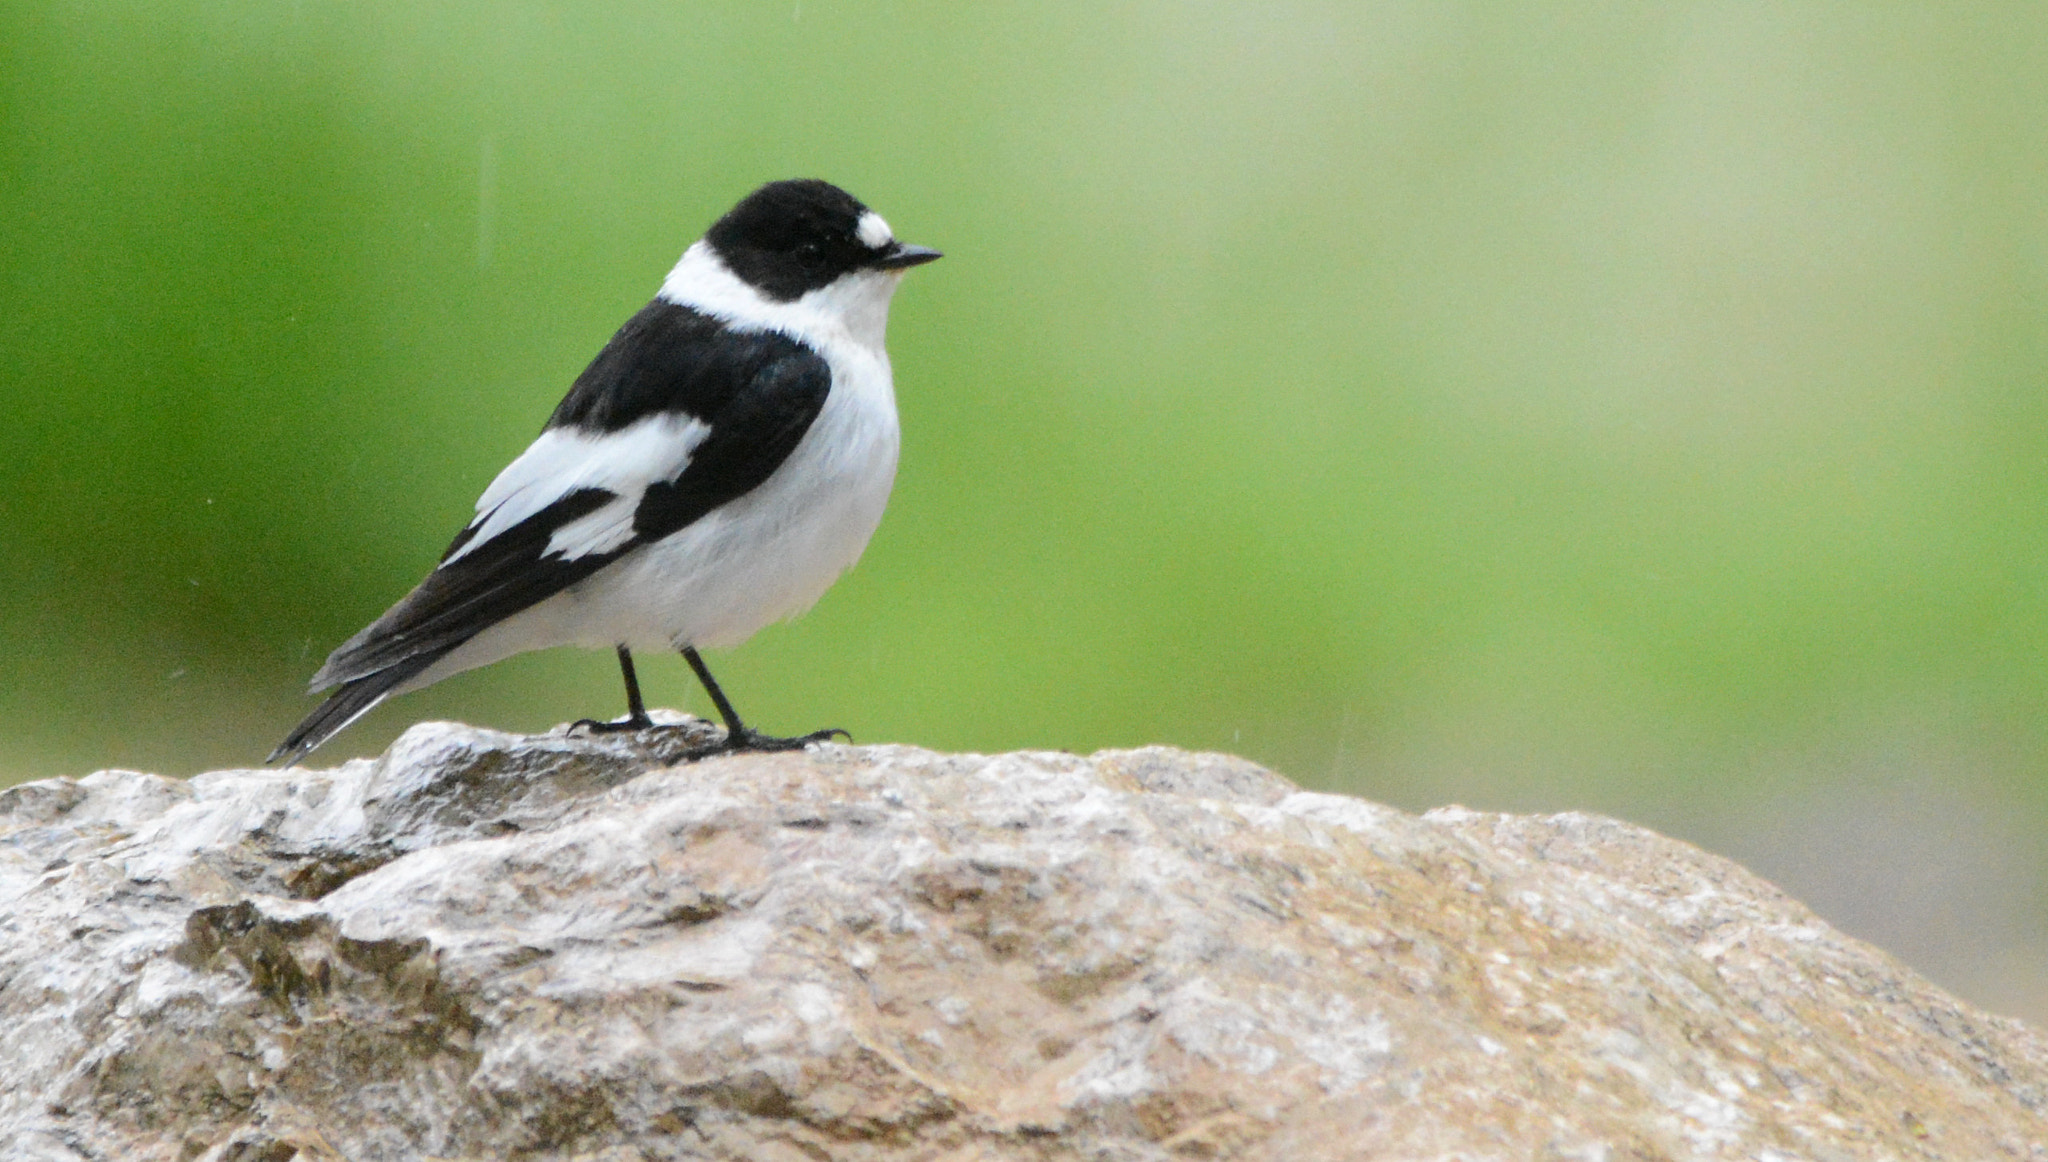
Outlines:
{"type": "Polygon", "coordinates": [[[676,480],[690,465],[690,453],[711,434],[696,416],[659,414],[635,420],[616,432],[551,428],[541,432],[518,459],[477,498],[477,531],[442,564],[469,555],[477,545],[516,529],[522,521],[580,488],[616,492],[618,500],[569,521],[549,537],[553,553],[575,559],[608,553],[633,537],[633,510],[649,484],[676,480]]]}

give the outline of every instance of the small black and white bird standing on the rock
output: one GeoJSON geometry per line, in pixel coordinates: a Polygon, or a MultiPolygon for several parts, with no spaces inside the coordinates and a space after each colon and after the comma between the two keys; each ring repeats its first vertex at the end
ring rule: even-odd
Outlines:
{"type": "Polygon", "coordinates": [[[719,750],[795,750],[840,730],[748,728],[698,648],[795,617],[852,568],[895,484],[883,334],[899,242],[836,184],[768,182],[684,252],[598,350],[426,580],[313,674],[334,691],[270,752],[287,766],[391,695],[553,646],[612,648],[647,730],[633,650],[678,650],[719,750]]]}

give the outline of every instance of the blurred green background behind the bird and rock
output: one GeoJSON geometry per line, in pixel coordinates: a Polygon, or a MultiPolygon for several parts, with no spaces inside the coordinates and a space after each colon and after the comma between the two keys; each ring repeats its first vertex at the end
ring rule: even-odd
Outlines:
{"type": "Polygon", "coordinates": [[[0,781],[260,760],[799,174],[948,258],[866,559],[713,658],[760,725],[1618,814],[2048,1019],[2030,2],[6,0],[0,781]]]}

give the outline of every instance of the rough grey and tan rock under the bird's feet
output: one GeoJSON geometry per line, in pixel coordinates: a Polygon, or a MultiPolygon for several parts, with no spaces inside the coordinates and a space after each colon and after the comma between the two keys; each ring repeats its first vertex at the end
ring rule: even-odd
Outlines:
{"type": "Polygon", "coordinates": [[[2048,1158],[2048,1041],[1722,859],[1163,748],[29,783],[0,1041],[8,1160],[2048,1158]]]}

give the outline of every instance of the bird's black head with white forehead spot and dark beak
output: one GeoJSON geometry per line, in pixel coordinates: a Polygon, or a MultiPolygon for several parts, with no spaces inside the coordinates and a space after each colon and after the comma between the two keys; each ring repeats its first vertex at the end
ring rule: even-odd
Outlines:
{"type": "Polygon", "coordinates": [[[903,246],[860,199],[815,178],[750,193],[705,242],[733,275],[784,303],[854,271],[901,271],[938,258],[938,250],[903,246]]]}

